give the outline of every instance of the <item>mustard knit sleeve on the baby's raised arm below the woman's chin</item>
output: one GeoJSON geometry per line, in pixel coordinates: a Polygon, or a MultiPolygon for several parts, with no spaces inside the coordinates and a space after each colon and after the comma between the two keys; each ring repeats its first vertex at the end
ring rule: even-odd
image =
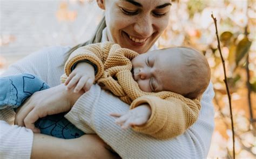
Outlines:
{"type": "MultiPolygon", "coordinates": [[[[95,64],[97,67],[97,74],[95,75],[95,81],[97,81],[104,71],[104,63],[112,47],[111,42],[97,43],[79,47],[69,56],[68,61],[65,63],[65,74],[69,76],[72,66],[81,60],[88,60],[95,64]]],[[[63,81],[63,80],[62,80],[63,81]]]]}

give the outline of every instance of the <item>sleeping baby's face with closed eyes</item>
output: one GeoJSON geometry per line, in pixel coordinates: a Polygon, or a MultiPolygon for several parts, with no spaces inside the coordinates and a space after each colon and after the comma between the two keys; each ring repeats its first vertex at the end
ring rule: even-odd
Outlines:
{"type": "Polygon", "coordinates": [[[174,91],[183,80],[181,56],[175,48],[153,50],[132,59],[133,75],[144,92],[174,91]]]}

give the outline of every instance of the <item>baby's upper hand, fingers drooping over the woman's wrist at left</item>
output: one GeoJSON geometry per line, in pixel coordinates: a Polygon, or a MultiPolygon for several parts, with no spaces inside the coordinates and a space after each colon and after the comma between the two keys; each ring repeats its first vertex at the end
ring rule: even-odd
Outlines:
{"type": "Polygon", "coordinates": [[[72,71],[68,78],[66,78],[65,85],[66,90],[74,89],[77,93],[81,89],[84,91],[90,90],[93,82],[95,81],[95,70],[90,63],[80,62],[76,68],[72,71]]]}

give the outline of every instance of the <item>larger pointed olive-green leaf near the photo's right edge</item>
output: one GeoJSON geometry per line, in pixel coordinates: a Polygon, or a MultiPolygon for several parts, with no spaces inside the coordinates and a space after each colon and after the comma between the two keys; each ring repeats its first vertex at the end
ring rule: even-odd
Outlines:
{"type": "Polygon", "coordinates": [[[235,63],[237,65],[248,54],[251,45],[252,42],[247,37],[238,42],[237,49],[235,50],[235,63]]]}

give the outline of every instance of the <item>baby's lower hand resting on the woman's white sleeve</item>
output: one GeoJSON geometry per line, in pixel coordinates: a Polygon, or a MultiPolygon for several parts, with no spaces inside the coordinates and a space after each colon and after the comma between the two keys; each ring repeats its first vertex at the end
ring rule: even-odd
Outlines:
{"type": "Polygon", "coordinates": [[[115,121],[116,124],[126,129],[133,125],[139,126],[145,124],[150,118],[151,109],[148,104],[143,104],[126,113],[110,113],[110,115],[112,117],[118,117],[115,121]]]}

